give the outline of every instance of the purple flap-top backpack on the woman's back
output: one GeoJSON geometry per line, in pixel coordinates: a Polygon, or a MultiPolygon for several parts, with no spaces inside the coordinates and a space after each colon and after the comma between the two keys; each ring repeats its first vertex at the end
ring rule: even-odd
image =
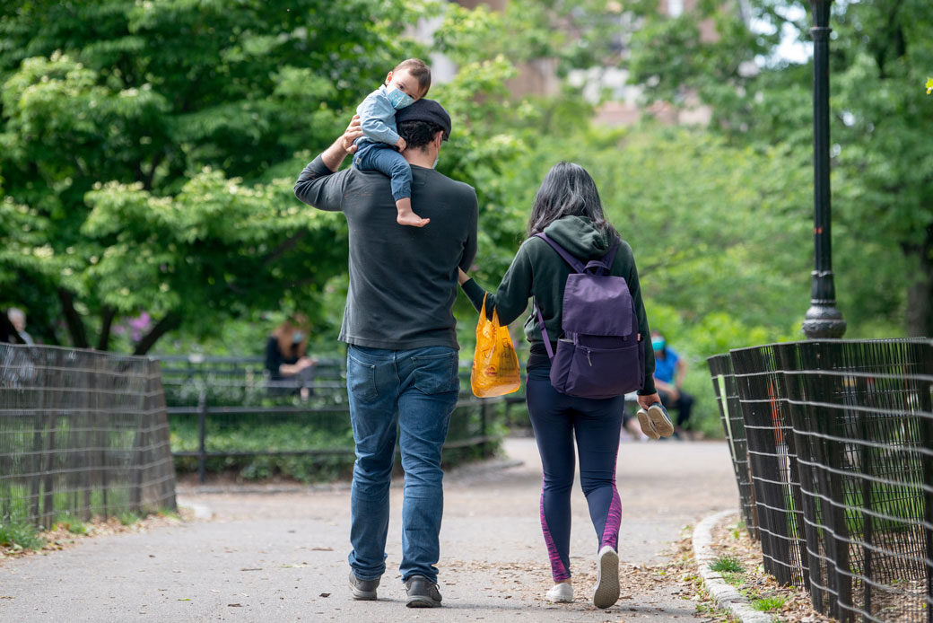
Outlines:
{"type": "Polygon", "coordinates": [[[564,334],[557,340],[556,353],[535,304],[550,358],[550,384],[580,398],[613,398],[644,388],[645,343],[638,333],[632,293],[623,277],[609,274],[619,240],[600,260],[584,265],[546,234],[535,235],[574,271],[564,288],[564,334]]]}

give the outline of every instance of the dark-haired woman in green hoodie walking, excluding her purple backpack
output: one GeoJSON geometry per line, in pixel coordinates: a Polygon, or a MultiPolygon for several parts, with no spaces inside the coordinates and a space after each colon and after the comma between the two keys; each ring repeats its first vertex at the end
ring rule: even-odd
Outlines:
{"type": "MultiPolygon", "coordinates": [[[[596,185],[586,170],[573,163],[558,163],[550,169],[538,189],[528,219],[529,238],[522,243],[502,283],[487,294],[463,271],[459,282],[470,302],[479,310],[486,296],[487,314],[498,313],[508,324],[535,305],[524,323],[531,344],[527,363],[525,395],[544,472],[540,516],[548,547],[554,587],[550,602],[573,602],[570,573],[570,491],[574,481],[574,439],[579,456],[580,485],[586,495],[590,517],[598,539],[597,581],[593,604],[607,608],[619,600],[619,526],[621,504],[616,488],[616,460],[624,396],[606,399],[579,398],[561,393],[550,382],[549,347],[544,344],[540,324],[555,349],[561,336],[564,283],[570,266],[545,240],[544,233],[582,262],[607,256],[619,239],[603,215],[596,185]]],[[[611,256],[609,256],[611,257],[611,256]]],[[[610,275],[625,278],[632,294],[639,339],[650,335],[642,304],[632,248],[620,241],[610,275]]],[[[638,403],[645,409],[660,403],[654,389],[654,356],[645,349],[645,383],[638,403]]]]}

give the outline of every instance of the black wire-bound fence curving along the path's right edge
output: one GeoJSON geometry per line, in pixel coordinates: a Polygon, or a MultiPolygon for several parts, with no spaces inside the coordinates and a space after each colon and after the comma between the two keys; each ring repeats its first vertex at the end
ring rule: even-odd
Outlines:
{"type": "Polygon", "coordinates": [[[933,341],[729,357],[769,572],[842,621],[933,623],[933,341]]]}

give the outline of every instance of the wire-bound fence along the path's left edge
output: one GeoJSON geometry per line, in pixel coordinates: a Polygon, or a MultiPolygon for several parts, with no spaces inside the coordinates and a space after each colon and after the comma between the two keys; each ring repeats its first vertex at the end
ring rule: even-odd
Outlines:
{"type": "Polygon", "coordinates": [[[0,344],[0,523],[174,509],[159,364],[0,344]]]}

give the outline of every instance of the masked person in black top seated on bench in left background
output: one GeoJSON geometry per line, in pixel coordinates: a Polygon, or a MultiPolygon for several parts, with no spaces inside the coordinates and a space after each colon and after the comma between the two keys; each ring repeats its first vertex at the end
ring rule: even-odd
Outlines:
{"type": "Polygon", "coordinates": [[[266,342],[266,371],[272,393],[293,393],[298,389],[301,400],[308,400],[317,360],[305,356],[308,335],[302,330],[303,318],[285,319],[266,342]]]}

